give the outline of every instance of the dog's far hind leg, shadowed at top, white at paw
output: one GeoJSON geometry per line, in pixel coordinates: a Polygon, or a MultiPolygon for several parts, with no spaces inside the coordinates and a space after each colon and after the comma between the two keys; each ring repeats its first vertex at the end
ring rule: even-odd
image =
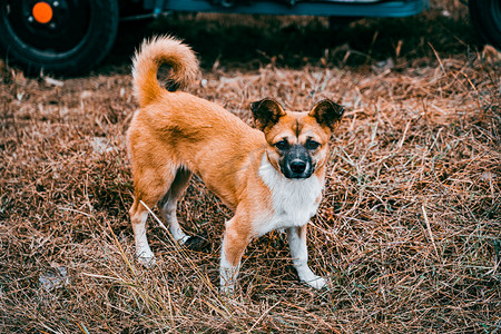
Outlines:
{"type": "Polygon", "coordinates": [[[170,185],[169,190],[165,194],[164,198],[158,203],[161,217],[168,223],[170,234],[174,239],[184,244],[189,239],[179,226],[176,215],[177,202],[188,187],[193,173],[186,168],[178,168],[176,177],[170,185]]]}

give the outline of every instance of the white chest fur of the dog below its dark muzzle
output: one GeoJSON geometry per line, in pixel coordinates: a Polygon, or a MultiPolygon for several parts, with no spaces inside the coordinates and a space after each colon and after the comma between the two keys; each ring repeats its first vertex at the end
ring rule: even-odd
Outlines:
{"type": "Polygon", "coordinates": [[[274,209],[273,214],[263,217],[257,232],[259,235],[278,228],[303,226],[315,215],[322,195],[322,183],[315,175],[306,179],[288,179],[264,155],[259,176],[272,191],[274,209]]]}

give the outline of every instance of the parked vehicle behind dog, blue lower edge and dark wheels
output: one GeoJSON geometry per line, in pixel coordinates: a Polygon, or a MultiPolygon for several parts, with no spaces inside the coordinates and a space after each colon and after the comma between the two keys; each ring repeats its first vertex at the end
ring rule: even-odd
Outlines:
{"type": "MultiPolygon", "coordinates": [[[[0,52],[30,73],[89,71],[111,48],[120,20],[161,12],[407,17],[429,0],[0,0],[0,52]]],[[[501,0],[470,0],[482,38],[501,48],[501,0]]]]}

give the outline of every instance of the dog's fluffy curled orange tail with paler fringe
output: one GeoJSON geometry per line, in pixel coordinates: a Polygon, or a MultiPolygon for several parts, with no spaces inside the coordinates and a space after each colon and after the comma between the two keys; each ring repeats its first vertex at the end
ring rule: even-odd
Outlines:
{"type": "Polygon", "coordinates": [[[140,107],[165,91],[157,78],[158,68],[164,63],[171,68],[166,87],[169,91],[186,88],[199,71],[195,52],[180,40],[169,36],[145,40],[132,60],[134,91],[140,107]]]}

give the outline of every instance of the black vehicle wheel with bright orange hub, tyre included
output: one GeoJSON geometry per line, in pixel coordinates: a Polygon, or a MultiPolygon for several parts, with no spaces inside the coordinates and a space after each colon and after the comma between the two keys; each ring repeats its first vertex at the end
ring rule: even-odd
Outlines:
{"type": "Polygon", "coordinates": [[[27,73],[75,76],[111,48],[117,0],[0,0],[0,52],[27,73]]]}

